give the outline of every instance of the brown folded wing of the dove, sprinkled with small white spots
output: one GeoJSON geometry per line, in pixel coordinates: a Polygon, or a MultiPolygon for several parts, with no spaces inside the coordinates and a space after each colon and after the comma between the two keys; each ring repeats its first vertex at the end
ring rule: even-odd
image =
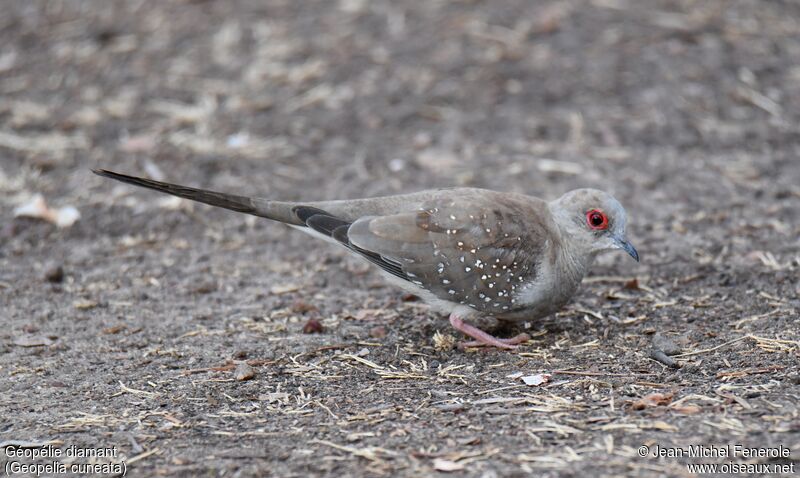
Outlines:
{"type": "Polygon", "coordinates": [[[347,226],[346,239],[354,251],[440,299],[501,314],[519,306],[516,293],[536,277],[552,235],[548,221],[544,202],[443,193],[416,210],[360,218],[347,226]]]}

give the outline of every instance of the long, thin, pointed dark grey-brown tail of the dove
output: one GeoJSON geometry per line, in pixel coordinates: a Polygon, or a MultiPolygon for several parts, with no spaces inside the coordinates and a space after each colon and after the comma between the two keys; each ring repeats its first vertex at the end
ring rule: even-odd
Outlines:
{"type": "Polygon", "coordinates": [[[133,184],[147,189],[154,189],[173,196],[191,199],[211,206],[217,206],[232,211],[243,212],[245,214],[253,214],[254,216],[266,217],[276,221],[286,222],[289,224],[300,225],[300,222],[295,216],[292,208],[294,204],[279,201],[269,201],[266,199],[250,198],[247,196],[237,196],[235,194],[218,193],[215,191],[208,191],[205,189],[190,188],[188,186],[181,186],[179,184],[165,183],[162,181],[155,181],[153,179],[145,179],[137,176],[128,176],[127,174],[115,173],[106,169],[93,169],[93,173],[111,179],[116,179],[123,183],[133,184]]]}

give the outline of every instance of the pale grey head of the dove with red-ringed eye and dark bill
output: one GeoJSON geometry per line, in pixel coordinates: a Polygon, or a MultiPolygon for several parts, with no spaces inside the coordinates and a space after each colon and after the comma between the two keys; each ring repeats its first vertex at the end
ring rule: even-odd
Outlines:
{"type": "Polygon", "coordinates": [[[625,235],[625,209],[610,194],[597,189],[575,189],[551,202],[550,210],[578,251],[594,256],[622,249],[639,261],[639,253],[625,235]]]}

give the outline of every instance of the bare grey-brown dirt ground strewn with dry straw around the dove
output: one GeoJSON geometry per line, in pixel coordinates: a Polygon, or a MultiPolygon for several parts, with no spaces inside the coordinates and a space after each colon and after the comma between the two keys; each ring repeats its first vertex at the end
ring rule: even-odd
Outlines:
{"type": "MultiPolygon", "coordinates": [[[[130,476],[800,460],[796,2],[2,10],[4,467],[53,461],[9,457],[19,444],[117,447],[130,476]],[[642,262],[600,258],[517,351],[463,351],[445,318],[343,250],[93,167],[308,200],[596,187],[626,206],[642,262]],[[15,217],[37,193],[80,219],[15,217]],[[322,332],[303,333],[313,320],[322,332]],[[736,444],[790,452],[653,456],[736,444]]],[[[58,461],[92,460],[109,462],[58,461]]]]}

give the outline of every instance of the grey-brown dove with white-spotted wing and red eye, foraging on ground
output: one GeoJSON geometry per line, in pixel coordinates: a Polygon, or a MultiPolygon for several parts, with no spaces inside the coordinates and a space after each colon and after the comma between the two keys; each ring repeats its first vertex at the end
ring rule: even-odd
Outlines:
{"type": "Polygon", "coordinates": [[[197,189],[94,169],[192,201],[285,223],[345,248],[392,284],[448,315],[470,337],[463,347],[515,349],[530,337],[495,337],[481,317],[533,321],[564,307],[595,257],[622,250],[626,212],[611,194],[575,189],[545,201],[519,193],[453,187],[363,199],[288,202],[197,189]]]}

